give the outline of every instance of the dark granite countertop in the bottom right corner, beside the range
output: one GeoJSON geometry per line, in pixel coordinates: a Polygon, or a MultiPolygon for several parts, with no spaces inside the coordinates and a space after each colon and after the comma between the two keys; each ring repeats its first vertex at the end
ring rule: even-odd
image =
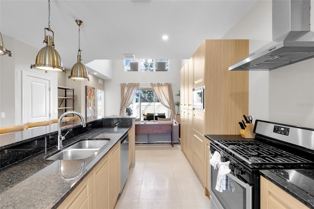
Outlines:
{"type": "Polygon", "coordinates": [[[295,199],[314,209],[314,170],[261,170],[260,173],[295,199]]]}

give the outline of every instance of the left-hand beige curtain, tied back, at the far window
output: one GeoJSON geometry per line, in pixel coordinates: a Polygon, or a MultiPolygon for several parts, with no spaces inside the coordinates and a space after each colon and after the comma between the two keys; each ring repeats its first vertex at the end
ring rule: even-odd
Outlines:
{"type": "Polygon", "coordinates": [[[121,83],[121,116],[126,115],[125,109],[132,103],[133,97],[138,88],[139,83],[121,83]]]}

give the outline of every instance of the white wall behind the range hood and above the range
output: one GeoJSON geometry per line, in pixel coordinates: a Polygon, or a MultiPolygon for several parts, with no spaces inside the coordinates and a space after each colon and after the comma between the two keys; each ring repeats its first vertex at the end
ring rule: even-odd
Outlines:
{"type": "MultiPolygon", "coordinates": [[[[256,51],[272,40],[271,9],[271,0],[260,0],[223,39],[249,39],[250,53],[256,51]]],[[[314,31],[312,17],[314,9],[314,31]]],[[[255,119],[314,128],[314,59],[249,72],[249,114],[255,119]]]]}

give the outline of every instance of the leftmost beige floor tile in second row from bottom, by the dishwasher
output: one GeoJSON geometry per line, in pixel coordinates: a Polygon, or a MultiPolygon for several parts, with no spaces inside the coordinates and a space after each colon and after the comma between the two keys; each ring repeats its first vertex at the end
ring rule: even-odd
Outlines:
{"type": "Polygon", "coordinates": [[[120,199],[138,199],[141,191],[142,178],[128,179],[120,199]]]}

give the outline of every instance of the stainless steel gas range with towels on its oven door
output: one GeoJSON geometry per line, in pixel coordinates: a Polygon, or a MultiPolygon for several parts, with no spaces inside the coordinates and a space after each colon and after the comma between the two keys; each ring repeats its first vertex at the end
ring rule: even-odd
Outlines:
{"type": "Polygon", "coordinates": [[[254,133],[206,135],[219,161],[210,166],[210,209],[259,209],[260,170],[314,169],[314,129],[257,120],[254,133]]]}

